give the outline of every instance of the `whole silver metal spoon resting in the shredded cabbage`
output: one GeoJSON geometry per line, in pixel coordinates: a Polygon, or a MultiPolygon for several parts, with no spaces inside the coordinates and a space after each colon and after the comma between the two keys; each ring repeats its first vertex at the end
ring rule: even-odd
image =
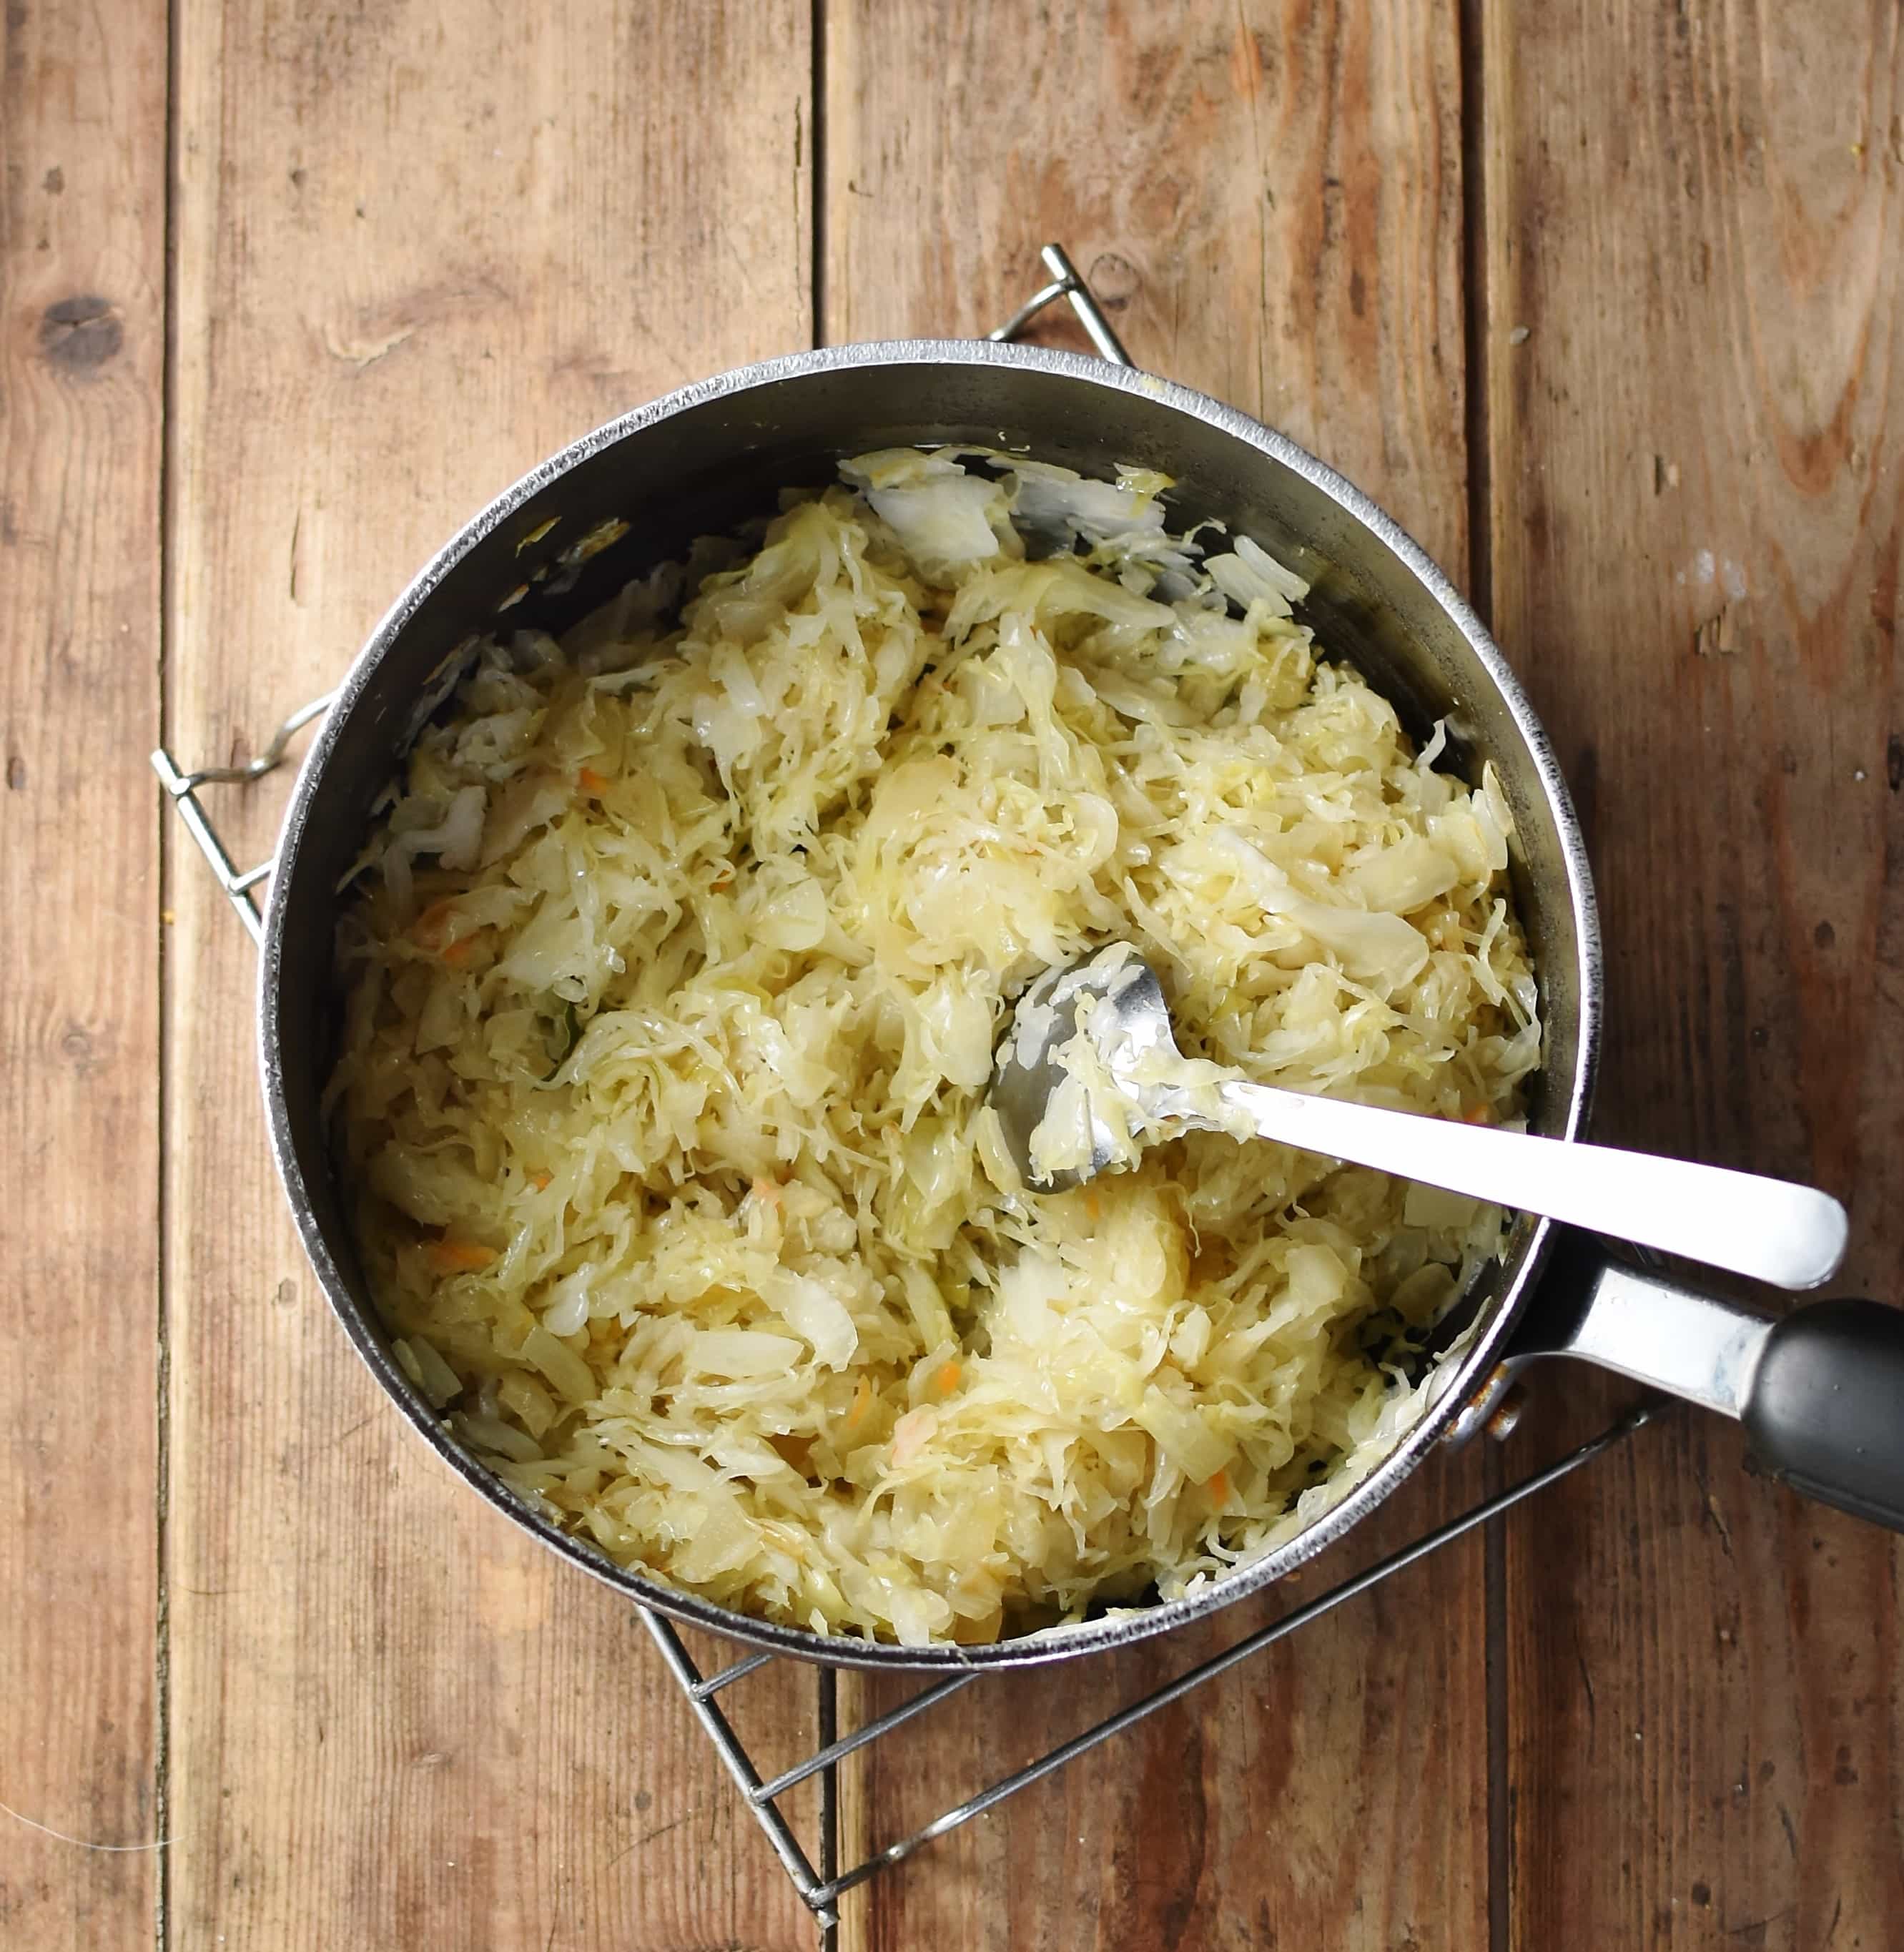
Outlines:
{"type": "Polygon", "coordinates": [[[1843,1206],[1812,1187],[1279,1091],[1185,1058],[1156,970],[1129,943],[1049,970],[1019,997],[990,1105],[1012,1163],[1039,1191],[1135,1165],[1150,1138],[1205,1130],[1373,1165],[1781,1288],[1818,1286],[1845,1251],[1843,1206]]]}

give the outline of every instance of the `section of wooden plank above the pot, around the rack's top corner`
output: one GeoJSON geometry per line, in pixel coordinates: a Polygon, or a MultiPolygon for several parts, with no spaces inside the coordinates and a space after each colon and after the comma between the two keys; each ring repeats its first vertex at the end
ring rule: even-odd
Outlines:
{"type": "Polygon", "coordinates": [[[1383,494],[1459,578],[1457,39],[1435,0],[836,0],[824,336],[984,332],[1056,238],[1138,365],[1383,494]]]}

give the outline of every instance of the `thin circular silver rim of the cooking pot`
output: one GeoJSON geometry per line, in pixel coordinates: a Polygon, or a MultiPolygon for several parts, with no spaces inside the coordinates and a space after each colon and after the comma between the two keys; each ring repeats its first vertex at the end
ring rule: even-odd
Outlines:
{"type": "MultiPolygon", "coordinates": [[[[385,1392],[412,1429],[435,1450],[435,1454],[490,1505],[506,1517],[525,1526],[543,1546],[560,1558],[592,1573],[605,1585],[623,1593],[641,1606],[668,1614],[689,1626],[699,1626],[728,1640],[744,1642],[769,1653],[791,1655],[830,1667],[910,1667],[910,1669],[971,1669],[971,1667],[1033,1667],[1047,1661],[1072,1659],[1084,1653],[1105,1651],[1109,1647],[1131,1646],[1154,1634],[1187,1626],[1222,1606],[1232,1605],[1252,1593],[1281,1579],[1285,1573],[1312,1560],[1326,1546],[1345,1536],[1363,1517],[1381,1505],[1390,1491],[1422,1462],[1439,1443],[1443,1431],[1459,1415],[1461,1407],[1488,1374],[1513,1331],[1541,1265],[1554,1236],[1552,1222],[1541,1218],[1529,1230],[1517,1253],[1504,1263],[1504,1282],[1498,1298],[1490,1304],[1492,1318],[1486,1320],[1467,1353],[1461,1357],[1435,1402],[1428,1405],[1420,1421],[1402,1441],[1377,1464],[1359,1484],[1326,1511],[1314,1525],[1295,1538],[1263,1554],[1248,1566],[1238,1567],[1201,1591],[1176,1601],[1160,1601],[1150,1606],[1133,1608],[1123,1614],[1088,1620],[1082,1626],[1045,1630],[998,1640],[986,1646],[931,1644],[908,1647],[894,1642],[851,1640],[848,1636],[822,1636],[805,1628],[781,1626],[752,1614],[736,1612],[693,1593],[676,1591],[652,1577],[631,1571],[609,1560],[600,1548],[559,1530],[527,1501],[512,1491],[502,1478],[478,1464],[461,1444],[457,1444],[434,1411],[416,1396],[398,1370],[394,1359],[379,1331],[367,1320],[352,1296],[350,1282],[334,1259],[330,1245],[318,1226],[310,1191],[299,1165],[291,1132],[291,1109],[285,1089],[285,1068],[281,1062],[283,1021],[279,1017],[281,970],[285,958],[285,917],[287,890],[293,882],[291,863],[303,841],[307,828],[318,810],[324,789],[324,775],[332,755],[344,740],[344,730],[352,711],[371,671],[385,652],[402,636],[416,613],[430,601],[449,570],[463,560],[486,535],[510,519],[510,515],[547,488],[559,476],[580,467],[584,461],[613,447],[656,422],[668,420],[689,408],[717,398],[732,398],[767,388],[785,381],[799,381],[818,373],[838,373],[863,367],[889,365],[961,365],[961,367],[1031,367],[1053,373],[1082,386],[1109,392],[1142,392],[1166,408],[1174,408],[1193,420],[1215,427],[1232,439],[1254,447],[1267,461],[1303,476],[1310,486],[1320,488],[1353,521],[1365,527],[1383,547],[1387,547],[1406,570],[1422,584],[1428,595],[1441,607],[1455,629],[1474,652],[1482,670],[1494,683],[1502,705],[1515,730],[1527,746],[1535,777],[1552,810],[1560,837],[1560,855],[1566,869],[1568,904],[1574,915],[1578,945],[1578,1021],[1576,1021],[1576,1060],[1574,1076],[1566,1081],[1566,1109],[1560,1130],[1566,1138],[1578,1138],[1586,1126],[1588,1107],[1594,1091],[1594,1076],[1599,1058],[1601,1038],[1601,939],[1599,915],[1594,902],[1592,873],[1586,859],[1586,843],[1580,820],[1574,812],[1572,796],[1554,757],[1547,730],[1535,716],[1519,679],[1508,668],[1506,658],[1494,638],[1482,627],[1472,607],[1459,595],[1428,552],[1375,502],[1347,482],[1334,468],[1326,467],[1306,449],[1287,435],[1252,420],[1232,406],[1213,400],[1176,381],[1160,379],[1138,367],[1117,367],[1082,353],[1056,351],[1039,346],[1019,346],[994,340],[875,340],[851,346],[828,346],[805,353],[785,353],[756,365],[734,367],[713,379],[695,381],[658,400],[623,414],[592,433],[582,435],[568,447],[539,463],[514,486],[506,488],[480,513],[467,521],[449,543],[432,556],[416,574],[404,593],[391,605],[389,613],[375,627],[357,652],[344,683],[338,687],[330,712],[312,742],[305,763],[299,769],[297,785],[285,812],[277,847],[277,873],[271,876],[269,900],[264,917],[264,947],[258,958],[258,1060],[264,1085],[266,1118],[271,1136],[271,1154],[277,1161],[279,1179],[297,1222],[299,1238],[310,1259],[324,1294],[350,1335],[357,1355],[369,1364],[385,1392]]],[[[849,443],[848,443],[849,445],[849,443]]]]}

